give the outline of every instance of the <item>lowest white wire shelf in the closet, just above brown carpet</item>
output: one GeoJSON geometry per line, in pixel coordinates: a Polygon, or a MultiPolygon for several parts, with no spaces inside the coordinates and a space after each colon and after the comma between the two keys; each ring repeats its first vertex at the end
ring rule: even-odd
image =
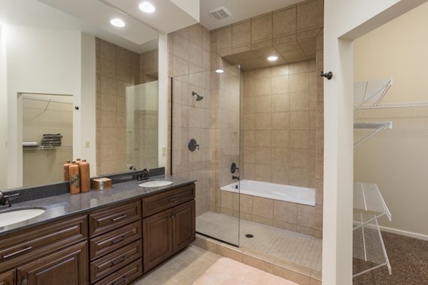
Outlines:
{"type": "Polygon", "coordinates": [[[370,224],[366,223],[367,220],[372,220],[370,215],[360,214],[360,219],[358,223],[365,225],[356,227],[353,231],[352,256],[370,262],[372,263],[370,265],[373,266],[353,274],[352,277],[365,274],[382,266],[387,266],[389,274],[392,274],[391,264],[389,264],[387,251],[384,246],[377,219],[374,219],[370,224]]]}

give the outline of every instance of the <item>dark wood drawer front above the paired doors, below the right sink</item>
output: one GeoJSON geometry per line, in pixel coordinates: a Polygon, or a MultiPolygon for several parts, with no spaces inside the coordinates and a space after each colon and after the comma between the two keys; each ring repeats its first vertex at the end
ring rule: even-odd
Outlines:
{"type": "Polygon", "coordinates": [[[143,217],[162,212],[164,209],[174,207],[191,199],[195,199],[195,184],[143,198],[143,217]]]}

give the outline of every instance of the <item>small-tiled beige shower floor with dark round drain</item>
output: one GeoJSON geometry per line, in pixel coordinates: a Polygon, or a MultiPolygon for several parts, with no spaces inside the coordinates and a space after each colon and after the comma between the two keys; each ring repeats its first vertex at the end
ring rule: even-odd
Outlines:
{"type": "Polygon", "coordinates": [[[196,217],[196,231],[240,247],[321,271],[322,239],[215,212],[196,217]],[[239,227],[240,226],[240,227],[239,227]],[[253,234],[253,238],[245,237],[253,234]]]}

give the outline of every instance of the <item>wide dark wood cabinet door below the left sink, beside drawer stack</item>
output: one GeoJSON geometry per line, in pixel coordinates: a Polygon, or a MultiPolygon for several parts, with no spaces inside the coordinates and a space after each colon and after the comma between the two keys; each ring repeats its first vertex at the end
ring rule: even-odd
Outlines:
{"type": "Polygon", "coordinates": [[[50,254],[17,270],[18,285],[88,284],[87,243],[50,254]]]}

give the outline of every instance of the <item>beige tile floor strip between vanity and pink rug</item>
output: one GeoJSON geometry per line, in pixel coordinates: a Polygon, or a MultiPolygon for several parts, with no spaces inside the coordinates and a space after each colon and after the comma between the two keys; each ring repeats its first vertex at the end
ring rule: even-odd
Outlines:
{"type": "Polygon", "coordinates": [[[220,257],[190,245],[133,285],[191,285],[220,257]]]}

